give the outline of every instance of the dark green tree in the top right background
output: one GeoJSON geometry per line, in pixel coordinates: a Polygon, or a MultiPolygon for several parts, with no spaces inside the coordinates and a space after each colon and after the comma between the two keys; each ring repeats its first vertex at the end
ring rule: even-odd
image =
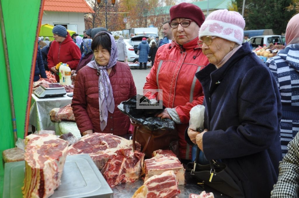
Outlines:
{"type": "MultiPolygon", "coordinates": [[[[244,9],[245,30],[272,29],[281,35],[286,31],[289,19],[295,10],[288,10],[292,0],[246,0],[244,9]]],[[[243,0],[234,0],[237,10],[242,13],[243,0]]]]}

